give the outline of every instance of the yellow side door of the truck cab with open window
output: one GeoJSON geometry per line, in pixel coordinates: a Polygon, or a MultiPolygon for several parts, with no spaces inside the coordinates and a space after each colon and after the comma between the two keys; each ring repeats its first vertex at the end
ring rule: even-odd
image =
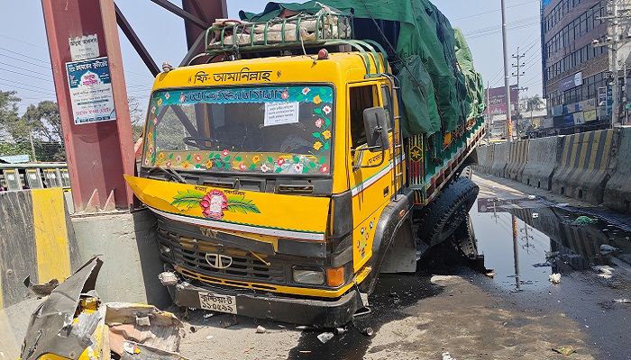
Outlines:
{"type": "MultiPolygon", "coordinates": [[[[348,87],[347,118],[350,126],[348,168],[352,192],[353,267],[357,271],[372,255],[372,239],[380,213],[393,191],[391,149],[360,151],[367,148],[363,124],[364,109],[383,106],[381,83],[361,82],[348,87]]],[[[391,137],[391,131],[389,132],[391,137]]],[[[390,138],[391,139],[391,138],[390,138]]],[[[390,141],[392,143],[392,141],[390,141]]]]}

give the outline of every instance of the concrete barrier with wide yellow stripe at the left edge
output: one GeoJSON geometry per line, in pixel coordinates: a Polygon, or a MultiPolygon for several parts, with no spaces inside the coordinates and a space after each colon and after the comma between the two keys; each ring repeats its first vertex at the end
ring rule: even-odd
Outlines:
{"type": "Polygon", "coordinates": [[[65,280],[80,266],[61,188],[0,193],[0,351],[17,358],[39,301],[23,282],[65,280]]]}

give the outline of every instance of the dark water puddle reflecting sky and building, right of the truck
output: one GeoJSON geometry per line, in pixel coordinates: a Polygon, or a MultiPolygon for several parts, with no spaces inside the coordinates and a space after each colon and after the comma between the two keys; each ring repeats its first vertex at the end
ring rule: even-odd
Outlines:
{"type": "Polygon", "coordinates": [[[541,290],[552,274],[631,260],[631,234],[542,200],[479,198],[471,219],[485,266],[510,291],[541,290]]]}

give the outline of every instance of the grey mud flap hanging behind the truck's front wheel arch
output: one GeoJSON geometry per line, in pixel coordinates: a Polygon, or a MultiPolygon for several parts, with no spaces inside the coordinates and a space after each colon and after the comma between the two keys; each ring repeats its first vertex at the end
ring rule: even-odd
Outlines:
{"type": "Polygon", "coordinates": [[[416,246],[412,236],[412,229],[407,221],[398,230],[397,237],[390,245],[383,264],[381,274],[415,273],[416,246]]]}

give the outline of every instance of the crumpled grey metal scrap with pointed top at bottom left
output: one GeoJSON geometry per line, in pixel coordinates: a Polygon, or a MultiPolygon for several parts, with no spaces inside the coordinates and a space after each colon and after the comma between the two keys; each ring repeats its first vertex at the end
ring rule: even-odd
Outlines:
{"type": "MultiPolygon", "coordinates": [[[[78,359],[92,345],[92,334],[96,329],[72,331],[72,321],[77,311],[79,297],[95,289],[96,275],[103,261],[93,257],[86,265],[59,284],[49,298],[33,312],[29,328],[24,337],[23,360],[37,359],[44,354],[57,354],[69,359],[78,359]]],[[[89,322],[93,324],[93,322],[89,322]]]]}

